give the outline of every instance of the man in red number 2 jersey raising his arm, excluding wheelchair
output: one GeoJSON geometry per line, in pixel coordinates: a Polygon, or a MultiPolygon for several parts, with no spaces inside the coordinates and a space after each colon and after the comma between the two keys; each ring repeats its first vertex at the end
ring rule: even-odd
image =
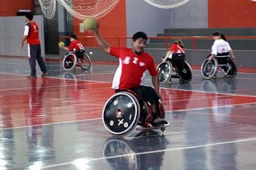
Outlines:
{"type": "Polygon", "coordinates": [[[137,32],[132,36],[132,48],[110,47],[99,35],[99,28],[94,29],[94,35],[99,47],[110,55],[119,58],[119,66],[113,78],[112,88],[116,92],[121,90],[132,90],[138,94],[138,99],[148,102],[152,106],[152,125],[167,124],[167,121],[159,115],[157,104],[159,104],[159,77],[154,58],[144,52],[148,37],[143,32],[137,32]],[[154,89],[141,85],[146,70],[151,74],[154,89]]]}

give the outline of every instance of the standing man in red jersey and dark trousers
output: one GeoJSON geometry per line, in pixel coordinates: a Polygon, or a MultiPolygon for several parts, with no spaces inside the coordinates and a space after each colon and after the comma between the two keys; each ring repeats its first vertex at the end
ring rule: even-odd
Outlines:
{"type": "Polygon", "coordinates": [[[36,61],[42,71],[41,77],[46,77],[48,75],[45,61],[41,55],[41,45],[39,39],[39,29],[37,23],[33,21],[33,15],[31,12],[26,13],[25,15],[25,31],[24,36],[21,39],[20,47],[23,48],[23,43],[27,41],[28,43],[28,53],[29,53],[29,64],[31,68],[31,73],[28,78],[36,78],[37,70],[36,70],[36,61]]]}

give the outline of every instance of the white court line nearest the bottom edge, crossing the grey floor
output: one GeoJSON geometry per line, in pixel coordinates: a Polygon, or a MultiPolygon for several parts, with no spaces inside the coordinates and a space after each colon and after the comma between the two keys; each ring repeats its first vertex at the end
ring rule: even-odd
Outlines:
{"type": "MultiPolygon", "coordinates": [[[[185,146],[185,147],[176,147],[176,148],[170,148],[170,149],[165,149],[165,150],[155,150],[155,151],[148,151],[148,152],[138,152],[138,153],[129,153],[129,154],[124,154],[124,155],[114,155],[114,156],[108,156],[108,157],[101,157],[101,158],[89,158],[88,161],[101,161],[101,160],[106,160],[106,159],[112,159],[112,158],[122,158],[122,157],[130,157],[131,155],[146,155],[146,154],[152,154],[152,153],[158,153],[158,152],[171,152],[171,151],[176,151],[176,150],[191,150],[195,148],[200,148],[200,147],[213,147],[217,145],[222,145],[222,144],[233,144],[233,143],[240,143],[240,142],[250,142],[250,141],[255,141],[256,138],[250,138],[250,139],[238,139],[238,140],[233,140],[233,141],[227,141],[227,142],[217,142],[217,143],[211,143],[211,144],[200,144],[200,145],[194,145],[194,146],[185,146]]],[[[72,162],[67,162],[67,163],[58,163],[50,166],[42,166],[40,167],[41,169],[49,169],[49,168],[54,168],[58,166],[67,166],[73,164],[72,162]]]]}

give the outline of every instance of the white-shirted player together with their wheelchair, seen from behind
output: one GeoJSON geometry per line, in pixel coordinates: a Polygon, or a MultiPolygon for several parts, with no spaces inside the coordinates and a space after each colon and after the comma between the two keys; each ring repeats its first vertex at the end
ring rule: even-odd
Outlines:
{"type": "Polygon", "coordinates": [[[235,77],[237,73],[235,56],[224,34],[214,32],[215,39],[211,47],[211,55],[208,55],[201,66],[204,78],[210,79],[217,76],[217,69],[222,70],[227,77],[235,77]]]}

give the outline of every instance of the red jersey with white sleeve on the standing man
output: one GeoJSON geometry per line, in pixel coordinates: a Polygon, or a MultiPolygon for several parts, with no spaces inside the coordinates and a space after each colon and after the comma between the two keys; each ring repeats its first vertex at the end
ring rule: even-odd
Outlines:
{"type": "Polygon", "coordinates": [[[40,45],[39,28],[34,21],[29,22],[25,26],[24,35],[27,36],[27,42],[29,45],[40,45]]]}

